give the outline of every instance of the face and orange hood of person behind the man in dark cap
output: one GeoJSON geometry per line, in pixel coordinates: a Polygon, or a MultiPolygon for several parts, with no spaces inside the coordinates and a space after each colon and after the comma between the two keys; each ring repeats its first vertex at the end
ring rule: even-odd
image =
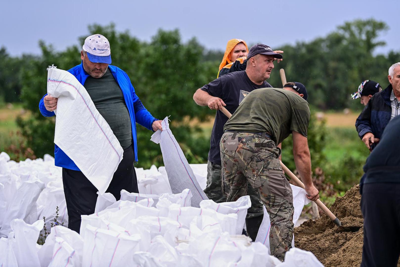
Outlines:
{"type": "Polygon", "coordinates": [[[240,63],[243,63],[243,61],[246,59],[248,52],[249,49],[244,40],[229,40],[228,44],[226,44],[225,54],[222,58],[217,78],[223,74],[226,74],[236,60],[240,60],[240,63]]]}

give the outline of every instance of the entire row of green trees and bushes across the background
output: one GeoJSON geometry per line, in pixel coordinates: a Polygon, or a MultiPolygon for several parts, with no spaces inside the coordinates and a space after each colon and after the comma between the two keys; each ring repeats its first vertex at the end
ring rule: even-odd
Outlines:
{"type": "MultiPolygon", "coordinates": [[[[356,20],[346,22],[323,38],[276,47],[284,50],[284,61],[275,65],[269,82],[279,87],[277,69],[285,68],[288,80],[306,85],[310,104],[326,109],[351,106],[355,101],[349,100],[350,93],[362,80],[370,78],[386,84],[388,67],[399,61],[399,52],[374,54],[375,48],[384,45],[379,35],[386,29],[384,22],[356,20]]],[[[171,115],[172,131],[188,161],[206,162],[210,136],[189,122],[194,118],[204,121],[215,112],[196,105],[192,96],[197,88],[216,77],[223,51],[208,51],[195,38],[183,43],[178,30],[158,30],[150,42],[140,41],[129,32],[117,32],[113,24],[92,25],[88,30],[108,38],[113,64],[128,73],[146,108],[160,119],[171,115]]],[[[85,38],[78,38],[79,43],[85,38]]],[[[56,52],[49,44],[39,45],[40,56],[12,57],[5,48],[0,50],[0,98],[6,102],[20,101],[30,110],[31,116],[18,118],[18,126],[28,147],[42,157],[52,154],[54,148],[54,119],[44,118],[38,110],[38,102],[46,93],[46,68],[54,64],[68,70],[80,64],[81,48],[70,46],[56,52]]],[[[138,127],[140,167],[162,165],[159,146],[149,141],[150,135],[150,131],[138,127]]],[[[286,142],[283,157],[293,162],[290,141],[286,142]]],[[[309,144],[314,166],[324,161],[324,142],[324,127],[317,125],[313,117],[309,144]]]]}

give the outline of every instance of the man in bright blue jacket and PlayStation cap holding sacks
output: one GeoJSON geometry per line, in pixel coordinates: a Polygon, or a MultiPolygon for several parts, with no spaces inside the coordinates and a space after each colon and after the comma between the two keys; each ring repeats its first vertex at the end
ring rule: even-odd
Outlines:
{"type": "MultiPolygon", "coordinates": [[[[126,72],[111,64],[110,44],[106,37],[94,34],[86,38],[80,52],[82,63],[68,72],[86,88],[124,149],[123,159],[114,173],[110,192],[119,200],[120,191],[139,193],[134,162],[138,161],[136,122],[149,130],[162,130],[161,120],[150,114],[135,93],[126,72]]],[[[57,98],[45,94],[39,102],[43,116],[54,116],[57,98]]],[[[94,213],[97,189],[76,164],[56,145],[55,165],[62,167],[62,181],[68,210],[68,228],[79,233],[81,215],[94,213]]]]}

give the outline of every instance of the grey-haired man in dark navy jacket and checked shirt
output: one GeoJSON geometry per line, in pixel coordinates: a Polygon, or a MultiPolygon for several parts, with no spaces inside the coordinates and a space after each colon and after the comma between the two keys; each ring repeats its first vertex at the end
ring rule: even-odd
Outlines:
{"type": "Polygon", "coordinates": [[[389,86],[372,96],[356,120],[358,136],[372,151],[389,121],[400,114],[400,62],[389,68],[389,86]]]}

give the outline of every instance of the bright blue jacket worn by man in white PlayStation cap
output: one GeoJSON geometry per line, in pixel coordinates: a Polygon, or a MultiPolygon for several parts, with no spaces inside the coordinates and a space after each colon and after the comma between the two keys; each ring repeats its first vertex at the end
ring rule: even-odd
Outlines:
{"type": "MultiPolygon", "coordinates": [[[[128,108],[129,112],[129,117],[130,121],[132,124],[132,140],[133,140],[133,148],[134,148],[134,153],[135,153],[135,161],[138,161],[138,146],[137,146],[137,138],[136,138],[136,122],[138,122],[140,125],[148,128],[149,130],[152,129],[152,124],[156,118],[148,112],[148,110],[143,106],[142,102],[140,101],[139,97],[135,93],[135,89],[132,86],[132,83],[130,81],[130,78],[128,77],[128,74],[121,70],[120,68],[112,65],[108,65],[108,68],[110,69],[112,76],[114,76],[114,79],[117,81],[118,85],[120,86],[122,90],[122,94],[124,95],[126,107],[128,108]]],[[[83,69],[82,63],[79,65],[74,66],[73,68],[69,69],[68,72],[70,72],[72,75],[75,76],[75,78],[83,85],[86,81],[86,78],[88,78],[89,74],[86,73],[86,71],[83,69]]],[[[46,96],[45,94],[44,96],[46,96]]],[[[54,116],[53,111],[48,111],[46,110],[46,107],[44,106],[44,96],[42,99],[40,99],[39,102],[39,110],[40,113],[42,113],[43,116],[45,117],[51,117],[54,116]]],[[[63,167],[66,169],[71,169],[75,171],[80,171],[79,168],[76,166],[76,164],[70,159],[64,151],[62,151],[57,145],[55,145],[54,148],[54,160],[55,160],[55,165],[58,167],[63,167]]]]}

